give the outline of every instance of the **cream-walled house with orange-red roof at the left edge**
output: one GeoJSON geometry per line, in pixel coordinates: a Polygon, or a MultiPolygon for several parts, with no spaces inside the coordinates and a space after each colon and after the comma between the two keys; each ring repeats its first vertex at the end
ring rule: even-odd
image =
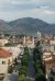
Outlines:
{"type": "Polygon", "coordinates": [[[0,77],[8,73],[8,68],[12,65],[12,54],[0,48],[0,77]]]}

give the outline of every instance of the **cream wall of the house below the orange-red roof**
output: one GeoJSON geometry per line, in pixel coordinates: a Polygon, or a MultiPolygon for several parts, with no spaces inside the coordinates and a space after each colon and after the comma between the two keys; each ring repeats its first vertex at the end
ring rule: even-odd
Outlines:
{"type": "Polygon", "coordinates": [[[12,65],[12,57],[8,57],[8,58],[0,58],[0,73],[7,73],[8,72],[8,62],[10,60],[10,65],[12,65]],[[2,61],[6,61],[6,63],[2,63],[2,61]]]}

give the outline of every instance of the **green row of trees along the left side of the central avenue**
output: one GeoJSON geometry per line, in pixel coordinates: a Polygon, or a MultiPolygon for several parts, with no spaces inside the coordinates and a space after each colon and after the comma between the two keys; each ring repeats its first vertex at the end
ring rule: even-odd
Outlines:
{"type": "Polygon", "coordinates": [[[29,48],[25,47],[23,58],[21,59],[22,66],[21,66],[21,69],[19,71],[19,80],[18,81],[25,81],[26,80],[29,59],[30,59],[29,48]]]}

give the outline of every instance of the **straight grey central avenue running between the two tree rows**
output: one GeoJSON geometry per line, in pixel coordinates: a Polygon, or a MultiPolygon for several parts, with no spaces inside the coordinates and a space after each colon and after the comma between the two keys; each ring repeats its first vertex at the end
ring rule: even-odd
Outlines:
{"type": "Polygon", "coordinates": [[[35,80],[35,72],[34,72],[34,68],[33,68],[33,54],[32,54],[32,51],[30,51],[30,61],[29,61],[26,81],[34,81],[34,80],[35,80]]]}

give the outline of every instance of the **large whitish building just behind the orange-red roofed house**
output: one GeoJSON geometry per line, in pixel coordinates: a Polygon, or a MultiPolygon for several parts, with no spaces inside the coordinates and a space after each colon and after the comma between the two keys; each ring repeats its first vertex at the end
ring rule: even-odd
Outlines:
{"type": "Polygon", "coordinates": [[[20,45],[15,45],[15,46],[10,45],[10,46],[4,46],[2,48],[6,49],[6,50],[8,50],[9,53],[12,53],[13,58],[15,58],[15,57],[18,58],[18,56],[21,53],[20,45]]]}

